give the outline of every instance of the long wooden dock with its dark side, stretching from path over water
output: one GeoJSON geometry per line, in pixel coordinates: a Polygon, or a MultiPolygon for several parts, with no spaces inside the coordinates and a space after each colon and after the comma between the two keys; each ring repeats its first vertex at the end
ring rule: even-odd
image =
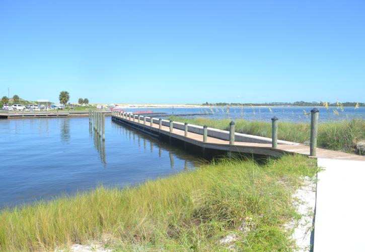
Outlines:
{"type": "MultiPolygon", "coordinates": [[[[258,154],[272,157],[280,157],[284,154],[301,154],[310,156],[310,147],[298,143],[290,143],[285,141],[278,141],[277,147],[272,148],[270,139],[266,139],[267,143],[257,143],[257,139],[260,137],[245,135],[247,142],[235,141],[234,145],[230,144],[229,140],[224,140],[220,137],[206,136],[206,141],[203,140],[203,135],[198,133],[193,133],[188,131],[185,135],[185,130],[177,129],[179,122],[173,122],[172,132],[170,123],[167,120],[162,120],[161,118],[153,118],[151,123],[151,117],[148,116],[138,116],[127,113],[112,113],[112,120],[127,124],[129,127],[137,129],[139,131],[148,133],[159,138],[168,138],[171,140],[178,140],[188,145],[199,147],[203,150],[217,150],[226,153],[249,153],[258,154]],[[139,117],[139,122],[138,122],[139,117]],[[176,124],[176,125],[175,125],[176,124]],[[251,140],[251,139],[252,140],[251,140]]],[[[188,124],[189,127],[202,128],[197,125],[188,124]]],[[[181,127],[180,127],[181,128],[181,127]]],[[[215,130],[215,129],[210,129],[215,130]]],[[[216,130],[216,132],[228,133],[225,131],[216,130]]],[[[222,134],[223,134],[222,133],[222,134]]],[[[239,135],[238,133],[236,133],[239,135]]],[[[212,135],[212,134],[210,134],[212,135]]],[[[241,134],[242,135],[242,134],[241,134]]],[[[263,138],[260,138],[263,139],[263,138]]],[[[262,140],[264,141],[264,140],[262,140]]],[[[342,159],[342,160],[358,160],[365,161],[364,156],[349,154],[339,151],[331,151],[326,149],[317,148],[316,158],[328,158],[328,159],[342,159]]]]}

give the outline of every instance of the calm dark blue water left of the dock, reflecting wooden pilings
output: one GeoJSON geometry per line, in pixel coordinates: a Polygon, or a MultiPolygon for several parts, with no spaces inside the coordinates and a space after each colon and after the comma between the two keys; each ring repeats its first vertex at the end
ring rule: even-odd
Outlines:
{"type": "Polygon", "coordinates": [[[86,117],[0,119],[0,208],[190,169],[197,157],[105,119],[105,146],[86,117]]]}

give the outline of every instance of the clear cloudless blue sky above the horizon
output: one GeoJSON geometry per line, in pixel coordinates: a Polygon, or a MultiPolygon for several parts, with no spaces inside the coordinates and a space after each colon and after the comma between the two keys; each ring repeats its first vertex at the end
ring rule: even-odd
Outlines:
{"type": "Polygon", "coordinates": [[[0,96],[359,101],[365,1],[0,1],[0,96]]]}

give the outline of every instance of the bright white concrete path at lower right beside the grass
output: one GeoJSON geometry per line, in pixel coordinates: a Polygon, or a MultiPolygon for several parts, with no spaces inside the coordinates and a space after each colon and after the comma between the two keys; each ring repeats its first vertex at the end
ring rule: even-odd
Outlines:
{"type": "Polygon", "coordinates": [[[365,251],[365,162],[318,158],[314,251],[365,251]]]}

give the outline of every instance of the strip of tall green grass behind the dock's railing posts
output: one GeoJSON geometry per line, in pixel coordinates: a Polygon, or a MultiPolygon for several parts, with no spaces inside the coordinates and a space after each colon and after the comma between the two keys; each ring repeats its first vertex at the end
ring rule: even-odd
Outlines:
{"type": "MultiPolygon", "coordinates": [[[[171,120],[188,122],[196,125],[229,130],[229,119],[170,117],[171,120]]],[[[235,120],[236,132],[271,138],[271,121],[235,120]]],[[[279,122],[278,139],[304,143],[310,139],[310,123],[279,122]]],[[[318,125],[318,142],[320,148],[355,152],[356,143],[365,140],[365,120],[351,119],[323,122],[318,125]]]]}

